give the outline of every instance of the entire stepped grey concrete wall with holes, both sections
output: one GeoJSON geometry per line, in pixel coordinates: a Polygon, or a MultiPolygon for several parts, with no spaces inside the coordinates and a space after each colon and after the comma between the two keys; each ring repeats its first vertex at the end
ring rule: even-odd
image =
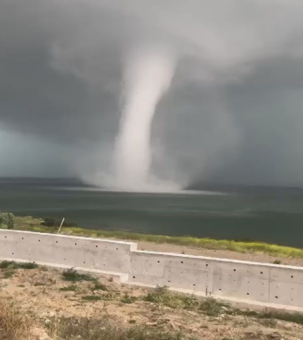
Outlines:
{"type": "Polygon", "coordinates": [[[132,242],[1,229],[0,257],[125,273],[134,285],[303,307],[302,267],[137,251],[132,242]]]}

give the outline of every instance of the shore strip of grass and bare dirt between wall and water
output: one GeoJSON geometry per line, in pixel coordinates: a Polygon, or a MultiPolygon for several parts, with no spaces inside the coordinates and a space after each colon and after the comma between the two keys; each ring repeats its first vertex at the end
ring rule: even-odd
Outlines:
{"type": "MultiPolygon", "coordinates": [[[[58,232],[58,227],[43,226],[41,225],[42,221],[43,219],[29,216],[16,217],[14,229],[41,233],[58,232]]],[[[61,234],[134,241],[138,243],[138,249],[147,251],[183,253],[195,256],[229,258],[303,267],[303,249],[265,242],[151,235],[125,231],[86,229],[81,227],[62,227],[61,234]]]]}

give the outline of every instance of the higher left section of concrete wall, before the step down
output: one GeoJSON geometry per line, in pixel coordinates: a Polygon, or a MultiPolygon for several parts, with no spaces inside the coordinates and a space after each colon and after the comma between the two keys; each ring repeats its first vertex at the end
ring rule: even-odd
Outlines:
{"type": "Polygon", "coordinates": [[[130,271],[132,242],[0,229],[0,257],[111,272],[130,271]]]}

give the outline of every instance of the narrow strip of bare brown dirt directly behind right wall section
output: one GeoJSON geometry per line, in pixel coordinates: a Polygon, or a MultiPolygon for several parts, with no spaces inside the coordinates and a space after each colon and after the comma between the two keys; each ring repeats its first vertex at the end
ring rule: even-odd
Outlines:
{"type": "Polygon", "coordinates": [[[281,261],[282,265],[299,266],[303,267],[303,259],[300,258],[285,258],[278,256],[271,256],[263,253],[245,254],[238,253],[229,250],[213,250],[213,249],[201,249],[191,248],[188,246],[174,245],[167,243],[153,243],[153,242],[139,242],[138,249],[155,251],[155,252],[166,252],[166,253],[182,253],[195,256],[209,256],[218,258],[229,258],[234,260],[253,261],[253,262],[266,262],[273,263],[278,260],[281,261]]]}

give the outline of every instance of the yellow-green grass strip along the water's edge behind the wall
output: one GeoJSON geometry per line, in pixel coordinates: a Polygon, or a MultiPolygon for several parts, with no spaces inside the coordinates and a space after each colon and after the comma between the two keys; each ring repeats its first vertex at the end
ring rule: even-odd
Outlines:
{"type": "MultiPolygon", "coordinates": [[[[41,225],[42,219],[32,217],[16,217],[15,229],[42,233],[56,233],[58,228],[41,225]]],[[[126,231],[85,229],[79,227],[64,227],[62,234],[97,238],[112,238],[131,241],[168,243],[201,249],[221,249],[239,253],[264,253],[277,257],[303,258],[303,249],[269,244],[265,242],[246,242],[234,240],[214,240],[190,236],[165,236],[132,233],[126,231]]]]}

